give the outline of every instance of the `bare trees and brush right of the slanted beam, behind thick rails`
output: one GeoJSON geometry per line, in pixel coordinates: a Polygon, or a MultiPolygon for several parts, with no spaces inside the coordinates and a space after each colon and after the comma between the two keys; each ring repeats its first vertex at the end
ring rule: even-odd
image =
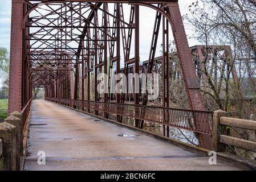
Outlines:
{"type": "MultiPolygon", "coordinates": [[[[189,6],[184,16],[186,26],[206,45],[231,46],[227,63],[237,71],[238,80],[231,75],[222,55],[217,60],[208,56],[201,64],[206,79],[202,82],[205,105],[209,110],[223,109],[232,117],[250,119],[255,114],[256,96],[256,2],[253,0],[201,0],[189,6]],[[210,70],[215,70],[211,72],[210,70]],[[216,73],[216,76],[215,74],[216,73]]],[[[242,129],[230,130],[232,137],[255,141],[255,133],[242,129]]],[[[230,148],[229,148],[230,150],[230,148]]],[[[253,154],[235,148],[237,155],[251,158],[253,154]]],[[[233,150],[231,150],[233,151],[233,150]]]]}

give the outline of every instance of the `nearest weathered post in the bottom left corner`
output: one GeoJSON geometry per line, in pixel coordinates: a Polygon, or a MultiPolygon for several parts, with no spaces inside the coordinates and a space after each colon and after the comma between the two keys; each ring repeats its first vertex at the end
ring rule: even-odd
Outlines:
{"type": "Polygon", "coordinates": [[[10,123],[0,123],[0,138],[3,139],[3,169],[16,171],[16,127],[10,123]]]}

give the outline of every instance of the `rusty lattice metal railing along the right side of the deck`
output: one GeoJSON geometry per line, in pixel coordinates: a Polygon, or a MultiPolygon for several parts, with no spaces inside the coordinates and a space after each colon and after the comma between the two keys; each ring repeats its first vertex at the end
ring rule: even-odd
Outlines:
{"type": "Polygon", "coordinates": [[[83,100],[67,100],[46,98],[58,104],[87,108],[104,113],[123,115],[148,122],[177,127],[195,133],[212,135],[213,112],[187,109],[174,109],[160,106],[143,106],[135,104],[119,104],[116,102],[95,102],[83,100]]]}

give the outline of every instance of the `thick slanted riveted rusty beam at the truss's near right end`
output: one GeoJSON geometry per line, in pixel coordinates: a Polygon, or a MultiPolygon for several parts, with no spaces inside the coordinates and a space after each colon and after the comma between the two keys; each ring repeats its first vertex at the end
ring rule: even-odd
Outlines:
{"type": "MultiPolygon", "coordinates": [[[[196,76],[196,71],[194,68],[192,68],[192,55],[189,51],[188,40],[186,39],[185,28],[182,22],[178,2],[169,2],[166,3],[165,6],[168,7],[170,18],[175,26],[175,29],[172,28],[172,30],[176,43],[177,55],[180,59],[182,75],[185,82],[190,108],[193,110],[205,110],[205,106],[203,104],[204,102],[202,101],[201,96],[200,82],[196,76]]],[[[198,122],[196,125],[202,125],[202,123],[198,122]]],[[[212,138],[209,135],[198,134],[198,140],[201,147],[212,149],[212,138]]]]}

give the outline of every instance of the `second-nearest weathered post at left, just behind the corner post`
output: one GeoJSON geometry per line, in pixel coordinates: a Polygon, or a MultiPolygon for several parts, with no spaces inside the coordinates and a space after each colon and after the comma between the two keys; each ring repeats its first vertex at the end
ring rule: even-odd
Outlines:
{"type": "MultiPolygon", "coordinates": [[[[22,117],[22,114],[14,113],[19,117],[22,117]]],[[[10,123],[11,125],[16,127],[16,169],[20,171],[21,166],[21,156],[23,154],[23,144],[22,144],[22,121],[20,118],[15,117],[14,115],[10,115],[8,118],[5,119],[6,123],[10,123]]]]}

